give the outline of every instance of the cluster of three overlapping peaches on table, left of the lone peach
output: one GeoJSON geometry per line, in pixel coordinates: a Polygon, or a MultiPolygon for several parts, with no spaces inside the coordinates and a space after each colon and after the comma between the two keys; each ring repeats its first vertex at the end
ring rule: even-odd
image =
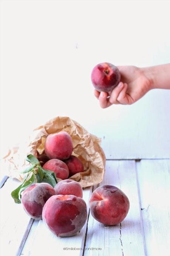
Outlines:
{"type": "Polygon", "coordinates": [[[21,203],[33,219],[42,219],[57,236],[74,236],[84,226],[87,207],[77,181],[62,180],[54,188],[35,183],[24,190],[21,203]]]}

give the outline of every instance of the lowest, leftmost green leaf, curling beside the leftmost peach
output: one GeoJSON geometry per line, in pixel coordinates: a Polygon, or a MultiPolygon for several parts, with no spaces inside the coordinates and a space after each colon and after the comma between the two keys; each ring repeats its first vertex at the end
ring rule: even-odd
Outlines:
{"type": "Polygon", "coordinates": [[[23,183],[11,192],[11,196],[13,197],[15,203],[20,204],[21,203],[21,192],[23,190],[25,190],[27,187],[29,187],[31,184],[33,184],[37,181],[36,176],[35,176],[34,173],[32,173],[29,180],[27,180],[28,175],[29,174],[27,174],[27,177],[24,179],[23,183]]]}

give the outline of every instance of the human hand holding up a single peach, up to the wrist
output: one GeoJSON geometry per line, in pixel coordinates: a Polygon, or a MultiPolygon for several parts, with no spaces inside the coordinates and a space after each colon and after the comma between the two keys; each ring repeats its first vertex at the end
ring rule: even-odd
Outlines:
{"type": "Polygon", "coordinates": [[[145,68],[136,66],[118,66],[121,81],[112,92],[98,92],[94,94],[99,99],[101,108],[112,104],[130,105],[142,98],[150,89],[151,81],[145,73],[145,68]]]}

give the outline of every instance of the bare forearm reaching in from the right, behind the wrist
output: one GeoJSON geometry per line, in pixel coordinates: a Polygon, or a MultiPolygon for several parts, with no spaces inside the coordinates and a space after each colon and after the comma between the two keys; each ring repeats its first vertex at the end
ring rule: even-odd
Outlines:
{"type": "Polygon", "coordinates": [[[150,81],[150,89],[170,89],[170,63],[142,69],[150,81]]]}

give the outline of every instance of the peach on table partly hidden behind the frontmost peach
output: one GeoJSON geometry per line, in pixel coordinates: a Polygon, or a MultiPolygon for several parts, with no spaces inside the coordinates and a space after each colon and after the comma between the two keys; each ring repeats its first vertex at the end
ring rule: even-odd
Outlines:
{"type": "Polygon", "coordinates": [[[83,190],[81,185],[77,181],[62,180],[54,187],[56,195],[74,195],[77,197],[83,197],[83,190]]]}

